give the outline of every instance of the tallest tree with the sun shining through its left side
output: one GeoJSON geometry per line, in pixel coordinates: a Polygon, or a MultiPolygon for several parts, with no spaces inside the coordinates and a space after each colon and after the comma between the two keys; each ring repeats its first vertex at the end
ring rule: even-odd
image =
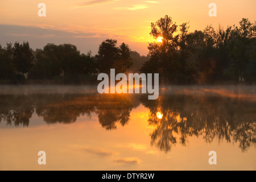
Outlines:
{"type": "Polygon", "coordinates": [[[162,41],[149,44],[150,60],[144,63],[141,72],[157,72],[167,76],[177,71],[175,51],[178,48],[179,35],[175,35],[175,32],[177,32],[177,25],[168,15],[151,23],[150,35],[154,39],[162,39],[162,41]]]}

